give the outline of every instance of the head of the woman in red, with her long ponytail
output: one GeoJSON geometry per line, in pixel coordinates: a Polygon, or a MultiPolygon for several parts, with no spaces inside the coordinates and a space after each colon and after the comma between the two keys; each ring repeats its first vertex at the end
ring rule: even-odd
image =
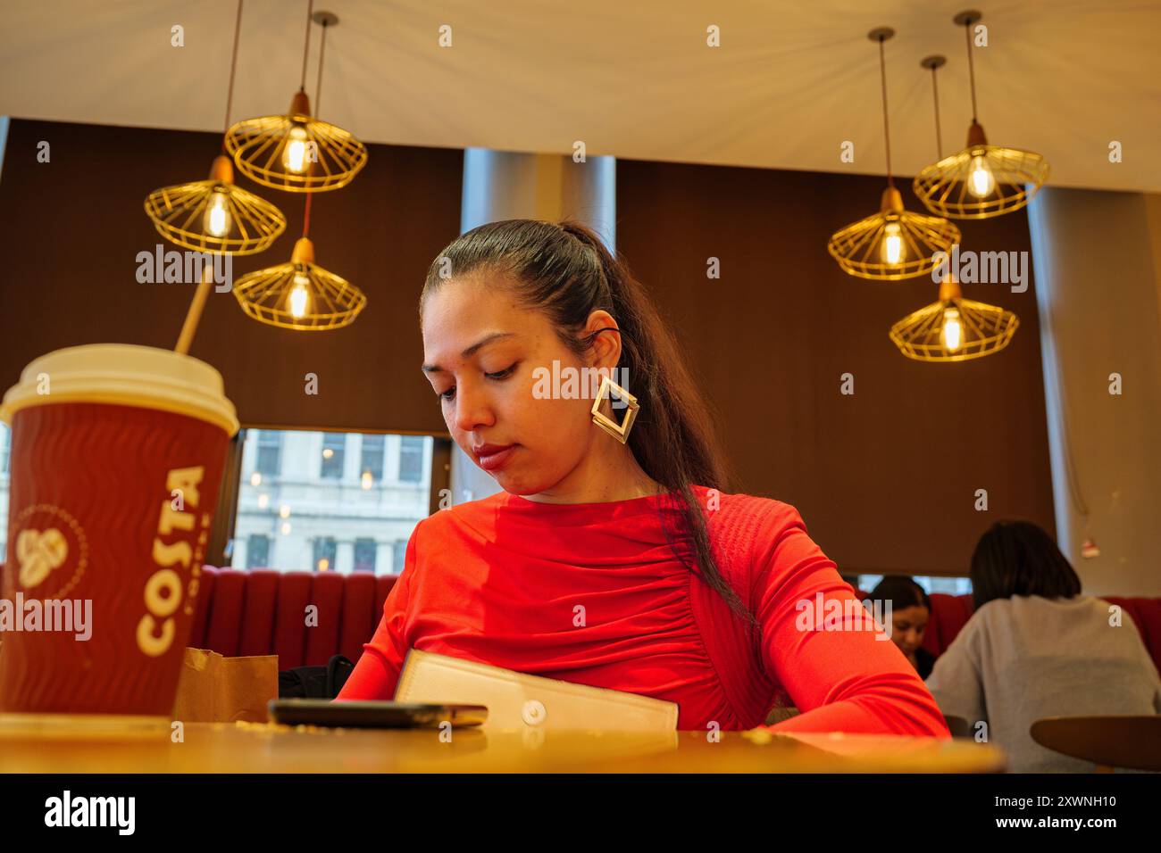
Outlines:
{"type": "Polygon", "coordinates": [[[534,219],[473,229],[432,262],[419,316],[424,370],[456,444],[477,464],[475,447],[514,446],[489,471],[505,491],[575,503],[603,479],[649,478],[677,498],[707,581],[740,606],[690,489],[729,486],[708,407],[644,289],[596,233],[534,219]],[[534,392],[534,371],[554,361],[615,368],[641,406],[627,444],[592,422],[586,383],[584,397],[534,392]]]}

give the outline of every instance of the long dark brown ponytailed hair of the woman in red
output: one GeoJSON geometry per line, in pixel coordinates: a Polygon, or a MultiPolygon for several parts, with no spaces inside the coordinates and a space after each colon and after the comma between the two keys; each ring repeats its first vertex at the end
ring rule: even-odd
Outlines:
{"type": "MultiPolygon", "coordinates": [[[[567,347],[582,355],[591,339],[579,335],[597,310],[612,315],[621,330],[627,389],[641,405],[628,447],[637,464],[669,490],[682,529],[671,542],[679,559],[715,590],[751,627],[757,624],[738,594],[722,578],[713,556],[706,519],[691,489],[728,491],[724,464],[709,407],[682,359],[672,332],[622,259],[614,258],[589,227],[565,221],[507,219],[473,229],[453,240],[432,263],[419,301],[452,276],[493,270],[517,282],[518,298],[545,311],[567,347]],[[694,564],[686,555],[692,549],[694,564]]],[[[665,513],[663,513],[664,518],[665,513]]]]}

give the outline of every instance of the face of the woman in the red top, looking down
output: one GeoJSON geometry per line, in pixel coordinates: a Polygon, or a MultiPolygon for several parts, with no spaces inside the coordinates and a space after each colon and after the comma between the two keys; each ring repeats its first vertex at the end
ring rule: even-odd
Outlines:
{"type": "MultiPolygon", "coordinates": [[[[615,325],[607,312],[594,311],[586,331],[615,325]]],[[[450,279],[427,297],[423,337],[423,370],[452,438],[505,491],[553,490],[600,436],[591,396],[545,395],[553,383],[534,371],[551,377],[554,361],[557,370],[613,367],[620,354],[615,333],[597,335],[594,361],[585,364],[542,311],[518,304],[497,274],[481,273],[450,279]]]]}

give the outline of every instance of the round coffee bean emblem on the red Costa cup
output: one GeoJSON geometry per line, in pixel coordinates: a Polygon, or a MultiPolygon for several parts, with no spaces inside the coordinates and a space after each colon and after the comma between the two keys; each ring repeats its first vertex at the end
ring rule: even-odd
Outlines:
{"type": "Polygon", "coordinates": [[[77,519],[58,506],[34,504],[16,514],[12,529],[17,585],[43,586],[38,598],[45,600],[67,595],[88,565],[88,541],[77,519]]]}

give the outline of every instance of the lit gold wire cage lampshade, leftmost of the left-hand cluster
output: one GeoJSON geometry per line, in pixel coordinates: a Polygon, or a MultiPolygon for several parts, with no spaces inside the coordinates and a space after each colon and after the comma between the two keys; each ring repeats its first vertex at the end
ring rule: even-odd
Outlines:
{"type": "Polygon", "coordinates": [[[262,252],[287,226],[281,210],[235,186],[233,165],[221,154],[214,159],[209,180],[150,193],[145,214],[171,243],[219,254],[262,252]]]}

